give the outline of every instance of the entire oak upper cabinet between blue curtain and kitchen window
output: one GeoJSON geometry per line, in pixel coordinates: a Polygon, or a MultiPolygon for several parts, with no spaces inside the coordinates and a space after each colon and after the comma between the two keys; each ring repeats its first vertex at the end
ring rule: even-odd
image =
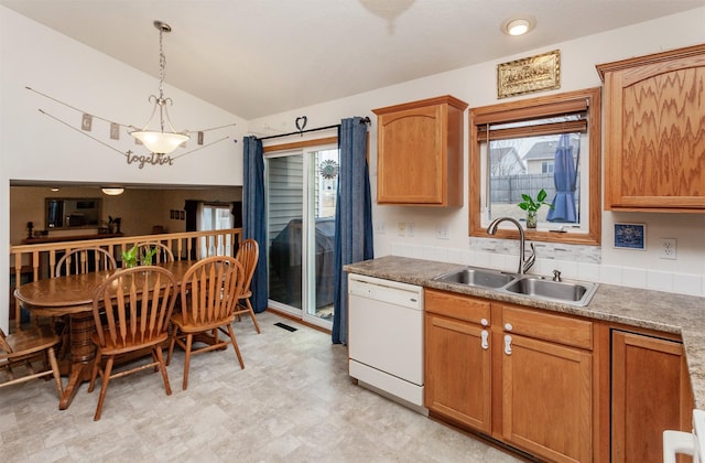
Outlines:
{"type": "Polygon", "coordinates": [[[373,109],[377,203],[463,205],[463,114],[452,96],[373,109]]]}

